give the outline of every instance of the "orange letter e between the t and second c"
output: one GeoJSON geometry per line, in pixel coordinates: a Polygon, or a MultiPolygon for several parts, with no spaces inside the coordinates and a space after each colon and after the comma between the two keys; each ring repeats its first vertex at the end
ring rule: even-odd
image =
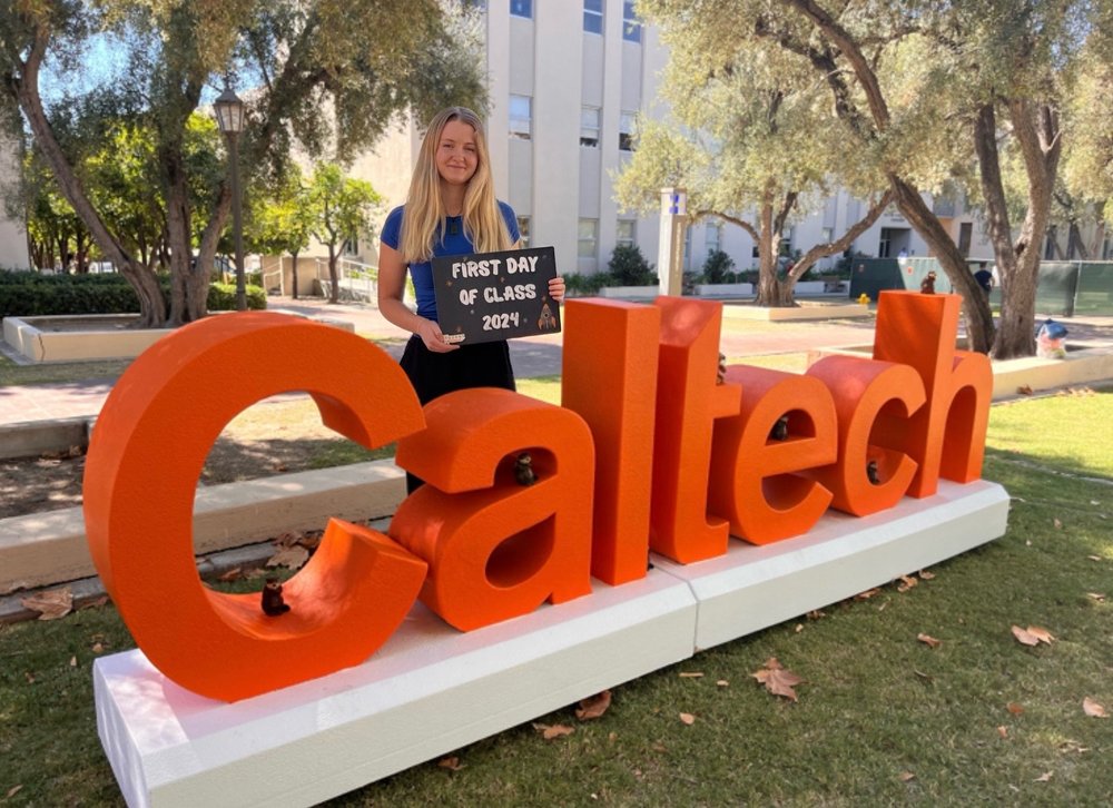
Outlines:
{"type": "Polygon", "coordinates": [[[833,463],[835,405],[823,382],[748,365],[727,368],[742,387],[741,410],[715,427],[709,497],[730,532],[769,544],[808,532],[830,504],[823,485],[794,472],[833,463]],[[788,417],[774,437],[778,421],[788,417]]]}

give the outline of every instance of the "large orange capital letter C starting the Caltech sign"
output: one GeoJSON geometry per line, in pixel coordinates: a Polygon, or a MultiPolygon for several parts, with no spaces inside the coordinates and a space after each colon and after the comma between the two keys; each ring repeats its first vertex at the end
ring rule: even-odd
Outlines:
{"type": "Polygon", "coordinates": [[[97,418],[85,472],[97,571],[150,662],[201,696],[243,699],[358,664],[401,624],[425,577],[425,563],[383,534],[332,520],[285,583],[285,614],[264,614],[257,592],[200,581],[193,509],[209,449],[238,412],[297,390],[326,425],[368,447],[424,423],[385,352],[262,312],[208,317],[158,341],[97,418]]]}

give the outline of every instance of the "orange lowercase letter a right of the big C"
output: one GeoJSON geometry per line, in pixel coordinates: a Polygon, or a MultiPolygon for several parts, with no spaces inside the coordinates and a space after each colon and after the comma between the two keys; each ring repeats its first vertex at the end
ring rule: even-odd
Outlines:
{"type": "Polygon", "coordinates": [[[422,601],[471,631],[589,594],[595,457],[583,418],[479,387],[431,401],[425,420],[398,441],[396,461],[426,484],[390,529],[429,563],[422,601]],[[515,476],[522,452],[532,485],[515,476]]]}

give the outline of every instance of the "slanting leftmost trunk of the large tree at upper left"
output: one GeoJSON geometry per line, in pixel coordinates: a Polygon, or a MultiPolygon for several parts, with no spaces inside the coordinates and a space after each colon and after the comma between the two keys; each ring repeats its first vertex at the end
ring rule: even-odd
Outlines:
{"type": "Polygon", "coordinates": [[[9,87],[19,101],[19,107],[35,137],[35,142],[42,152],[47,165],[50,166],[62,196],[66,197],[85,226],[89,228],[90,236],[100,247],[105,257],[120,269],[120,274],[136,290],[139,298],[137,326],[140,328],[161,326],[166,319],[166,302],[157,279],[154,274],[146,270],[146,267],[138,265],[116,237],[109,233],[100,215],[92,207],[92,203],[89,201],[73,167],[66,159],[42,109],[42,99],[39,96],[39,67],[46,55],[49,37],[50,35],[45,28],[39,27],[36,30],[35,42],[22,66],[22,71],[19,76],[9,77],[9,87]]]}

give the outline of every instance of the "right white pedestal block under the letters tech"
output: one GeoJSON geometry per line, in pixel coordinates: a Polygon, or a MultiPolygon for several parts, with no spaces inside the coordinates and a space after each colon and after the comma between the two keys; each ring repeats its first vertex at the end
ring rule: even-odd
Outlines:
{"type": "Polygon", "coordinates": [[[653,559],[699,601],[696,648],[760,631],[938,563],[1004,535],[1008,493],[996,483],[939,481],[935,496],[888,511],[828,511],[808,533],[757,546],[731,539],[726,555],[696,564],[653,559]]]}

